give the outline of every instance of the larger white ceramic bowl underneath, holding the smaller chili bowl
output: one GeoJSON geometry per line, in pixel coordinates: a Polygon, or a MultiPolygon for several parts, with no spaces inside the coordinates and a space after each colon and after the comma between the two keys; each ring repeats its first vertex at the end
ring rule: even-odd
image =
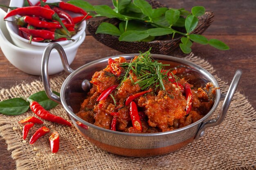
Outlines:
{"type": "MultiPolygon", "coordinates": [[[[41,62],[43,56],[43,50],[29,50],[22,49],[12,44],[9,32],[4,24],[4,16],[6,13],[0,9],[0,47],[5,57],[9,60],[13,66],[17,67],[21,71],[31,75],[41,75],[41,62]]],[[[71,64],[74,60],[78,47],[85,39],[85,32],[79,37],[72,46],[64,46],[64,50],[67,54],[67,60],[71,64]]],[[[49,74],[53,75],[63,71],[61,64],[61,58],[56,50],[52,51],[49,58],[49,74]]]]}

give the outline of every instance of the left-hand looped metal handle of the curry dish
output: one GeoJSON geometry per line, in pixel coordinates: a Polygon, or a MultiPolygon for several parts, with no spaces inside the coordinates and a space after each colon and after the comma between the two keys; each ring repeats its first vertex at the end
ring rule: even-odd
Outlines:
{"type": "Polygon", "coordinates": [[[43,85],[45,87],[45,93],[50,99],[61,104],[61,98],[58,95],[52,93],[52,89],[49,81],[49,75],[48,75],[48,62],[49,62],[50,53],[52,52],[53,49],[56,49],[58,51],[58,54],[61,57],[61,62],[64,67],[64,70],[69,74],[71,74],[74,70],[70,68],[70,65],[68,64],[68,60],[67,60],[67,55],[60,44],[56,42],[52,42],[46,46],[45,51],[43,53],[43,59],[42,59],[42,80],[43,80],[43,85]]]}

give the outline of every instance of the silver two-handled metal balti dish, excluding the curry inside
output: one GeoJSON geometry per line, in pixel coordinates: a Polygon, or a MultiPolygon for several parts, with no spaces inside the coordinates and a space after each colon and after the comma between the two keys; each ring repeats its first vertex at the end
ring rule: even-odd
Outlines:
{"type": "MultiPolygon", "coordinates": [[[[134,55],[136,54],[117,55],[111,58],[114,59],[122,56],[127,60],[130,60],[134,57],[134,55]]],[[[197,74],[199,77],[199,82],[202,84],[212,82],[214,86],[219,87],[218,82],[213,75],[196,64],[166,55],[152,54],[152,57],[155,60],[169,63],[172,66],[181,64],[187,66],[191,68],[191,70],[195,71],[195,74],[197,74]]],[[[92,78],[92,75],[96,71],[100,71],[107,66],[108,58],[109,57],[90,62],[73,71],[68,65],[63,48],[57,43],[49,44],[45,49],[42,60],[43,83],[48,97],[63,105],[76,129],[79,131],[79,133],[81,133],[81,135],[88,139],[88,141],[92,142],[94,145],[102,148],[103,150],[107,150],[108,152],[131,157],[162,155],[173,150],[177,150],[186,144],[189,144],[194,139],[199,139],[202,137],[204,135],[205,128],[220,124],[225,118],[231,99],[236,91],[240,76],[242,74],[240,70],[236,71],[222,108],[220,109],[220,113],[216,119],[206,120],[216,110],[220,102],[220,90],[216,91],[214,105],[209,113],[207,113],[199,121],[196,121],[189,126],[172,131],[150,134],[125,133],[100,128],[76,116],[76,113],[79,111],[80,104],[83,102],[87,91],[90,89],[90,83],[88,80],[92,78]],[[59,52],[65,71],[70,74],[63,82],[60,97],[52,93],[47,73],[49,54],[51,53],[52,49],[56,49],[59,52]],[[78,126],[76,121],[81,122],[85,128],[78,126]]]]}

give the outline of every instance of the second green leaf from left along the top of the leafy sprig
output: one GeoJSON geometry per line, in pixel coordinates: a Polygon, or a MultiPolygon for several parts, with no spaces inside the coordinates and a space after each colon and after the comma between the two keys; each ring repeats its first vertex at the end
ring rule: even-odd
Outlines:
{"type": "Polygon", "coordinates": [[[125,19],[123,15],[116,13],[108,5],[95,5],[93,7],[95,9],[95,12],[97,12],[101,16],[108,17],[108,18],[119,18],[121,20],[125,19]]]}

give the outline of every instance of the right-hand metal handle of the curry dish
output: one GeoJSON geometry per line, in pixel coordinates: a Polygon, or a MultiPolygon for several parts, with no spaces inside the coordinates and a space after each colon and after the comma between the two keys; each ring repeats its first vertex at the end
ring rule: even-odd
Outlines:
{"type": "Polygon", "coordinates": [[[217,126],[219,124],[221,124],[221,122],[225,119],[225,116],[227,114],[227,110],[229,109],[229,105],[231,103],[231,100],[234,96],[234,93],[236,92],[236,88],[238,86],[240,77],[242,75],[242,71],[241,70],[237,70],[234,78],[229,86],[229,90],[227,92],[227,95],[224,99],[224,102],[222,104],[222,107],[220,108],[220,112],[218,114],[218,116],[215,119],[211,119],[208,121],[205,121],[199,128],[197,134],[195,135],[195,139],[199,139],[200,137],[202,137],[205,133],[205,129],[211,126],[217,126]]]}

